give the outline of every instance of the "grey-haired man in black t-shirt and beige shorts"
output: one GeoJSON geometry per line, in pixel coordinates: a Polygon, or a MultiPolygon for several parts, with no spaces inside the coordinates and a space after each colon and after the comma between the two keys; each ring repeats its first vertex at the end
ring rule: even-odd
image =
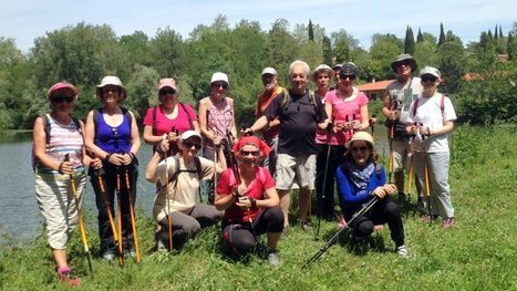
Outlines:
{"type": "Polygon", "coordinates": [[[300,186],[298,218],[303,230],[311,229],[307,224],[307,215],[316,179],[316,126],[325,129],[330,122],[321,101],[314,98],[314,93],[307,89],[309,73],[310,69],[306,62],[292,62],[289,66],[291,87],[278,94],[263,115],[245,131],[260,131],[268,122],[277,117],[280,119],[276,187],[288,227],[289,190],[294,180],[300,186]]]}

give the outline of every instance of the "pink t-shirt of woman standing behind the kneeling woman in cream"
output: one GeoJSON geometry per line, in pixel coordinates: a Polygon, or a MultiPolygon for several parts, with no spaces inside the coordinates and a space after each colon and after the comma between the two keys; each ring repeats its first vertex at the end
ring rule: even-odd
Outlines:
{"type": "MultiPolygon", "coordinates": [[[[190,122],[188,117],[190,117],[190,119],[194,122],[194,121],[197,121],[197,115],[193,111],[190,105],[185,104],[185,103],[183,105],[184,106],[182,106],[180,104],[176,105],[178,107],[178,115],[176,116],[176,118],[173,118],[173,119],[168,118],[164,114],[162,106],[156,106],[156,135],[161,136],[164,134],[168,134],[170,129],[173,128],[173,126],[176,127],[179,134],[188,129],[194,129],[194,128],[190,128],[190,122]],[[188,115],[187,115],[187,112],[185,112],[184,107],[188,112],[188,115]]],[[[145,117],[144,117],[144,125],[153,126],[154,108],[155,106],[147,110],[147,113],[145,114],[145,117]]]]}

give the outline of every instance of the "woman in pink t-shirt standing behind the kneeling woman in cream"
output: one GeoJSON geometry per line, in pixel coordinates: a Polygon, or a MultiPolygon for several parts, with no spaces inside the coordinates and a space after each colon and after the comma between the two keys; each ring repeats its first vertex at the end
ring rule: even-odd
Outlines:
{"type": "Polygon", "coordinates": [[[170,155],[179,152],[176,145],[179,135],[186,131],[199,133],[197,115],[190,105],[179,102],[176,81],[172,77],[159,80],[158,84],[159,105],[147,110],[144,117],[144,141],[151,145],[158,145],[163,135],[172,145],[170,155]]]}

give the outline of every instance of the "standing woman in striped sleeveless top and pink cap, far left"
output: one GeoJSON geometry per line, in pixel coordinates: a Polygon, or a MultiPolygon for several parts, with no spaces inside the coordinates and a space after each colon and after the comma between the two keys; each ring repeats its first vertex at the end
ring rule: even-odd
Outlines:
{"type": "Polygon", "coordinates": [[[45,220],[58,276],[71,285],[81,283],[70,271],[66,245],[79,221],[77,207],[82,207],[86,185],[85,166],[101,166],[100,159],[92,160],[85,155],[84,124],[71,117],[77,96],[74,85],[55,83],[46,93],[51,112],[35,118],[33,131],[35,196],[45,220]],[[75,194],[71,191],[71,183],[74,183],[75,194]]]}

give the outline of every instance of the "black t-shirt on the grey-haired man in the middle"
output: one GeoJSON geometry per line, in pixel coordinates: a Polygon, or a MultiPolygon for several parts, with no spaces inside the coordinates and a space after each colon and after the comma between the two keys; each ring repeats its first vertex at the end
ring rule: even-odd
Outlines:
{"type": "Polygon", "coordinates": [[[309,98],[309,91],[303,95],[290,92],[290,101],[282,105],[283,93],[266,108],[263,115],[269,119],[280,118],[278,153],[290,156],[317,154],[316,127],[327,118],[321,100],[316,97],[316,104],[309,98]]]}

